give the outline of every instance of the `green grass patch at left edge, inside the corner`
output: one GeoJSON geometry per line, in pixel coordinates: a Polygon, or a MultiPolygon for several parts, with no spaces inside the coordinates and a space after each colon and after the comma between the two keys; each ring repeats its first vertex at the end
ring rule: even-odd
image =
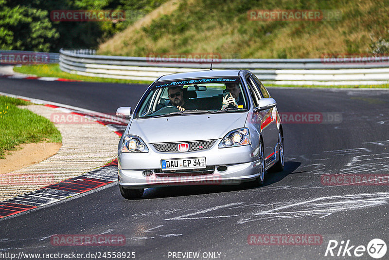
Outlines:
{"type": "Polygon", "coordinates": [[[0,96],[1,159],[5,158],[6,151],[16,150],[19,144],[62,141],[61,133],[49,119],[17,107],[28,104],[24,100],[0,96]]]}

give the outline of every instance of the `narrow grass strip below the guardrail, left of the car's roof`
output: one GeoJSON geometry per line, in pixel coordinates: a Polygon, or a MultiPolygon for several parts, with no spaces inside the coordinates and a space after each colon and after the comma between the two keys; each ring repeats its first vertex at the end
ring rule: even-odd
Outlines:
{"type": "Polygon", "coordinates": [[[89,82],[108,82],[108,83],[125,83],[125,84],[151,84],[151,81],[127,80],[104,77],[88,77],[77,74],[71,74],[61,71],[58,64],[43,64],[43,65],[23,65],[14,67],[14,71],[23,74],[36,75],[38,77],[59,77],[71,80],[81,80],[89,82]]]}

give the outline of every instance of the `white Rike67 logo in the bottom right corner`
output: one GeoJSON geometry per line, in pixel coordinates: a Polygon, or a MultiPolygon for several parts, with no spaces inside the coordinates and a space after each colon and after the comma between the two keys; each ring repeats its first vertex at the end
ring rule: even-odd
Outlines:
{"type": "Polygon", "coordinates": [[[327,249],[325,250],[324,256],[331,257],[366,257],[366,252],[375,259],[383,258],[387,251],[387,245],[385,241],[381,239],[371,240],[367,247],[364,245],[353,245],[350,240],[338,241],[330,240],[328,241],[327,249]]]}

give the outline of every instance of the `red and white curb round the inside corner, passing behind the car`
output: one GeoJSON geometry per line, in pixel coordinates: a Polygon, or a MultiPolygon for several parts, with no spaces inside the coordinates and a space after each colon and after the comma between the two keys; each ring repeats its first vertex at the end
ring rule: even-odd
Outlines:
{"type": "MultiPolygon", "coordinates": [[[[41,104],[52,108],[57,108],[63,112],[69,112],[81,116],[88,117],[88,120],[94,120],[105,125],[108,129],[114,131],[119,136],[124,132],[128,120],[119,118],[114,115],[90,111],[87,109],[77,108],[69,105],[59,104],[55,102],[32,99],[24,96],[1,93],[14,98],[23,99],[35,104],[41,104]]],[[[45,186],[33,192],[29,192],[12,199],[0,202],[0,219],[12,216],[21,212],[35,209],[41,206],[59,202],[61,200],[76,196],[81,193],[91,191],[113,184],[117,181],[117,160],[105,165],[104,167],[92,170],[80,176],[45,186]]]]}

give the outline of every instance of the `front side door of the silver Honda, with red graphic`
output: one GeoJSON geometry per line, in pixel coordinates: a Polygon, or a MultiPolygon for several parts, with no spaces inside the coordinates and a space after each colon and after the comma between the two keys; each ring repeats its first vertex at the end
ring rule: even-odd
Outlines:
{"type": "MultiPolygon", "coordinates": [[[[248,89],[251,93],[251,96],[254,101],[254,106],[259,106],[259,100],[262,98],[260,92],[258,91],[258,88],[255,86],[254,80],[250,75],[246,77],[246,82],[248,84],[248,89]]],[[[274,148],[272,147],[272,141],[271,141],[271,130],[270,130],[270,123],[272,121],[271,119],[271,109],[266,109],[263,111],[256,112],[253,116],[253,122],[255,122],[255,126],[258,129],[258,132],[262,133],[262,137],[264,140],[264,154],[265,158],[269,160],[269,158],[272,158],[272,154],[274,153],[274,148]]]]}

